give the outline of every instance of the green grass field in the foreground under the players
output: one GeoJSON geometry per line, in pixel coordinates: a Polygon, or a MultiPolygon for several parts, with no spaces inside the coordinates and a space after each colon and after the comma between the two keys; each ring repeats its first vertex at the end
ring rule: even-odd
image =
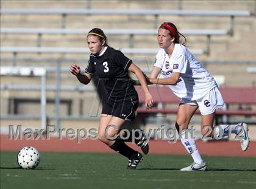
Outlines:
{"type": "Polygon", "coordinates": [[[256,160],[210,157],[207,171],[182,172],[190,156],[149,154],[137,170],[126,170],[119,154],[40,153],[35,170],[22,170],[15,152],[1,151],[4,188],[256,188],[256,160]]]}

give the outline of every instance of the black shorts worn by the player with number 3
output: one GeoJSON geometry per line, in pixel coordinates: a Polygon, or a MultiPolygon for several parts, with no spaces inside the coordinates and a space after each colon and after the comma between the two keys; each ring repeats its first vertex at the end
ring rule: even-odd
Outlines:
{"type": "Polygon", "coordinates": [[[133,121],[138,108],[138,95],[126,97],[125,99],[110,98],[105,101],[102,114],[113,115],[124,120],[133,121]]]}

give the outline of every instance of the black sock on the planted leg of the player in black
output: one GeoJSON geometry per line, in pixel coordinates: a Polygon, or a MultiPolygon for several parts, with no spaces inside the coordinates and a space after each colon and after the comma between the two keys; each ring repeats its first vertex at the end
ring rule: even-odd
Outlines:
{"type": "Polygon", "coordinates": [[[130,159],[134,154],[138,154],[137,151],[127,146],[124,141],[115,141],[110,148],[115,150],[117,153],[126,156],[128,159],[130,159]]]}

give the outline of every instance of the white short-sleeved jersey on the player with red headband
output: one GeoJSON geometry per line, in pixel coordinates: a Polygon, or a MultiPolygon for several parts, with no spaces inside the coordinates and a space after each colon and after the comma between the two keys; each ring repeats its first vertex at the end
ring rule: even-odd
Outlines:
{"type": "Polygon", "coordinates": [[[164,49],[160,49],[154,66],[162,69],[162,78],[171,77],[172,72],[180,73],[178,83],[169,85],[172,92],[180,98],[197,100],[218,86],[212,75],[182,44],[175,44],[170,58],[164,49]]]}

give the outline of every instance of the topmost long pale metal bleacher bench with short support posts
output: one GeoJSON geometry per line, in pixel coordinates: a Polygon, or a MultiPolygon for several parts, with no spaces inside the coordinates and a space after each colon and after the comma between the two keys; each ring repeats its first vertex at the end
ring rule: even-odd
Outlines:
{"type": "Polygon", "coordinates": [[[235,16],[251,16],[247,10],[116,10],[116,9],[1,9],[1,15],[62,15],[62,28],[66,28],[68,15],[153,15],[154,28],[159,15],[177,16],[229,16],[230,35],[233,35],[235,16]]]}

